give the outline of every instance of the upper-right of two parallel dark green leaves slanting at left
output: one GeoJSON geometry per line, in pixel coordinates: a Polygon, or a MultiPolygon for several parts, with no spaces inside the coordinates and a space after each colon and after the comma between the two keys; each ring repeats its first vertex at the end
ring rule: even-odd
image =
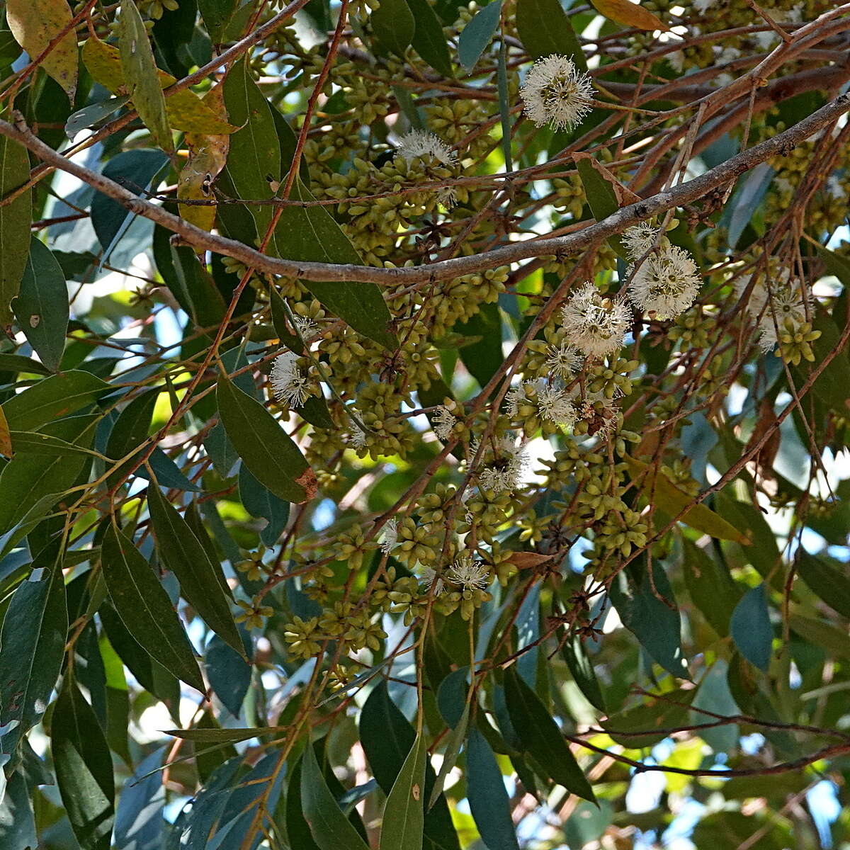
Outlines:
{"type": "Polygon", "coordinates": [[[201,543],[156,484],[148,487],[148,506],[157,551],[163,563],[177,576],[183,597],[213,632],[245,657],[241,635],[218,583],[217,570],[201,543]]]}

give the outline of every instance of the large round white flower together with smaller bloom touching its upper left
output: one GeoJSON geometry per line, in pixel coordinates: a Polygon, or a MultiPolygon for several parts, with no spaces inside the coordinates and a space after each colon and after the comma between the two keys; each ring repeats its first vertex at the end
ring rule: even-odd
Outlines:
{"type": "Polygon", "coordinates": [[[630,227],[623,243],[632,263],[627,294],[636,308],[659,319],[675,319],[696,300],[702,286],[700,269],[689,252],[671,245],[648,222],[630,227]],[[649,252],[649,254],[648,254],[649,252]]]}

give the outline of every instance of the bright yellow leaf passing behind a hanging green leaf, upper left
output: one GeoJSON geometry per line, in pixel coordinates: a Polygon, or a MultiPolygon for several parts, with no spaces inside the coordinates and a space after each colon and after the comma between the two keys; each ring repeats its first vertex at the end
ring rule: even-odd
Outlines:
{"type": "MultiPolygon", "coordinates": [[[[124,84],[121,54],[111,44],[89,37],[82,48],[82,61],[88,72],[112,94],[129,94],[124,84]]],[[[171,74],[156,69],[160,87],[167,88],[177,82],[171,74]]],[[[224,120],[224,109],[213,111],[201,98],[188,88],[165,99],[168,122],[175,130],[184,133],[225,134],[235,133],[234,127],[224,120]]]]}

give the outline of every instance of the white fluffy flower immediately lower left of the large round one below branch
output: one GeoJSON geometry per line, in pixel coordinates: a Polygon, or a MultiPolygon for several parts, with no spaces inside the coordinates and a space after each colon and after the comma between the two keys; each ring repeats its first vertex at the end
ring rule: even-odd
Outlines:
{"type": "Polygon", "coordinates": [[[604,297],[590,282],[573,293],[561,315],[567,339],[588,357],[615,354],[632,324],[626,303],[604,297]]]}

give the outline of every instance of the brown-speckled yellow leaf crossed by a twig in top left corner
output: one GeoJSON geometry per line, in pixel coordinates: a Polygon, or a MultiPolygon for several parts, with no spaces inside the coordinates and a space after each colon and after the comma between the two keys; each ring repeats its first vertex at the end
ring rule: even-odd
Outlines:
{"type": "MultiPolygon", "coordinates": [[[[37,59],[73,20],[65,0],[8,0],[8,28],[14,40],[37,59]]],[[[71,30],[42,59],[42,68],[65,89],[71,103],[77,92],[77,35],[71,30]]]]}

